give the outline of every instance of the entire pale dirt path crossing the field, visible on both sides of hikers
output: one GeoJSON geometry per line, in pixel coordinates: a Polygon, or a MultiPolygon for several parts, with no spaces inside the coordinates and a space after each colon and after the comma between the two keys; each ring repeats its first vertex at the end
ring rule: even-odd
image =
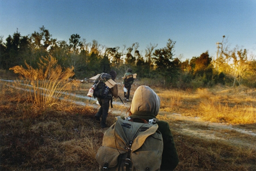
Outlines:
{"type": "MultiPolygon", "coordinates": [[[[14,86],[11,87],[19,89],[18,87],[14,86]]],[[[96,103],[97,101],[94,98],[88,102],[89,97],[87,96],[75,94],[70,95],[81,99],[81,101],[72,101],[78,105],[90,105],[94,106],[95,108],[99,108],[99,105],[96,103]]],[[[114,108],[111,108],[109,113],[116,116],[124,116],[127,109],[130,107],[130,102],[124,102],[123,104],[120,99],[116,99],[113,101],[113,105],[114,108]]],[[[171,130],[183,135],[196,136],[202,139],[214,139],[216,141],[226,141],[236,146],[256,148],[255,124],[251,127],[251,129],[249,127],[242,128],[241,126],[213,123],[203,121],[201,118],[182,116],[182,114],[174,114],[163,111],[159,112],[158,118],[160,120],[161,117],[170,120],[169,125],[171,130]]]]}

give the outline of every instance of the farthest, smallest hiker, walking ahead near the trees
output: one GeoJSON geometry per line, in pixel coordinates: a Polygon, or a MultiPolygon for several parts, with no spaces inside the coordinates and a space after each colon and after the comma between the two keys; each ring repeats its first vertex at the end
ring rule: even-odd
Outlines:
{"type": "Polygon", "coordinates": [[[123,79],[124,100],[126,100],[126,101],[129,101],[130,90],[131,90],[133,82],[134,82],[134,78],[133,78],[133,74],[132,74],[132,69],[129,68],[127,70],[127,72],[124,74],[124,79],[123,79]]]}

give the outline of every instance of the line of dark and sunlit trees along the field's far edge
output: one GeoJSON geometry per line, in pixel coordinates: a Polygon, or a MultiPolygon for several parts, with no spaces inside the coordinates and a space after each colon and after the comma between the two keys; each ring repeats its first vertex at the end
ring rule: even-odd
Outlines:
{"type": "Polygon", "coordinates": [[[96,40],[87,42],[72,34],[69,42],[53,38],[40,27],[39,32],[21,36],[18,30],[6,40],[0,37],[0,69],[25,63],[37,68],[40,57],[52,56],[63,68],[74,66],[75,77],[84,79],[114,69],[121,77],[128,68],[137,73],[138,79],[151,84],[175,88],[210,87],[216,84],[256,87],[256,60],[248,57],[246,49],[230,49],[223,36],[218,44],[216,59],[208,51],[198,57],[181,61],[175,57],[175,41],[167,40],[166,47],[149,44],[142,56],[139,43],[126,47],[106,47],[96,40]]]}

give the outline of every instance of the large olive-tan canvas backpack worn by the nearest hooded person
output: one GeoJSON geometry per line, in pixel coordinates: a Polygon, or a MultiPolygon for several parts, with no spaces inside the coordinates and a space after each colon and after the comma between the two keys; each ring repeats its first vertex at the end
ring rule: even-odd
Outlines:
{"type": "Polygon", "coordinates": [[[158,125],[122,120],[104,133],[96,154],[100,171],[157,171],[162,161],[163,140],[158,125]]]}

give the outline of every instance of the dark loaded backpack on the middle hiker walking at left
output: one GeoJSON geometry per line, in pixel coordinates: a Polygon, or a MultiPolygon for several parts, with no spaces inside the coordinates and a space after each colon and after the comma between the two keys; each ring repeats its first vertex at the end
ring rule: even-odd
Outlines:
{"type": "Polygon", "coordinates": [[[101,73],[100,76],[96,79],[94,83],[94,98],[99,97],[99,98],[106,98],[110,92],[110,89],[108,86],[105,84],[106,81],[111,79],[111,75],[106,74],[106,73],[101,73]]]}

